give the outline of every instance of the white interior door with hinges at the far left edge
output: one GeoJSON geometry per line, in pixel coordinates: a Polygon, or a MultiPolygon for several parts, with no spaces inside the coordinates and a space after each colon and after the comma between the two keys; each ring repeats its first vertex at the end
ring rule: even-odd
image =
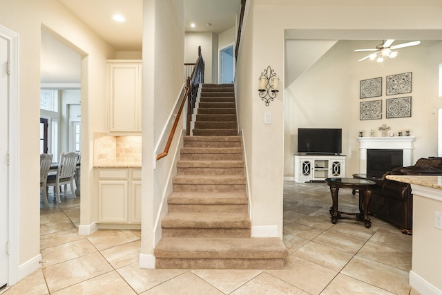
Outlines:
{"type": "Polygon", "coordinates": [[[0,35],[0,291],[8,284],[8,41],[0,35]],[[5,140],[6,139],[6,140],[5,140]]]}

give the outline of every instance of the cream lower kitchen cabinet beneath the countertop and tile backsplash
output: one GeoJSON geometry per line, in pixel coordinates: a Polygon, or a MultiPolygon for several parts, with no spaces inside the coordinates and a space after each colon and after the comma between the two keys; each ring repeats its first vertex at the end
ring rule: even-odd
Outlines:
{"type": "Polygon", "coordinates": [[[100,228],[140,228],[141,169],[95,169],[100,228]]]}

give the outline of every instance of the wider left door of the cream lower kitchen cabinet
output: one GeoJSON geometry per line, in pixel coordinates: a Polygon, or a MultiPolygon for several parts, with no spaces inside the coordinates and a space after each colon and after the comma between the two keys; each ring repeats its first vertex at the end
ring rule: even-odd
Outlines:
{"type": "Polygon", "coordinates": [[[100,180],[98,182],[98,221],[128,222],[128,182],[100,180]]]}

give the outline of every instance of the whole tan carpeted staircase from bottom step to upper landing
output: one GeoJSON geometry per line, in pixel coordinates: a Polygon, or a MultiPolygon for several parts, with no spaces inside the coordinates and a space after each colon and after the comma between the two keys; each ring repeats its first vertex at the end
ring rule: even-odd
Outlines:
{"type": "Polygon", "coordinates": [[[154,249],[156,268],[282,269],[280,238],[251,238],[232,84],[204,84],[154,249]]]}

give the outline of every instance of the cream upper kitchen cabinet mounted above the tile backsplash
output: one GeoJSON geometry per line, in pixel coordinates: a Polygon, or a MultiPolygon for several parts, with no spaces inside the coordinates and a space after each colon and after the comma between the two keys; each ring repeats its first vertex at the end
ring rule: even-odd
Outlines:
{"type": "Polygon", "coordinates": [[[107,62],[108,132],[139,134],[142,130],[142,61],[107,62]]]}

